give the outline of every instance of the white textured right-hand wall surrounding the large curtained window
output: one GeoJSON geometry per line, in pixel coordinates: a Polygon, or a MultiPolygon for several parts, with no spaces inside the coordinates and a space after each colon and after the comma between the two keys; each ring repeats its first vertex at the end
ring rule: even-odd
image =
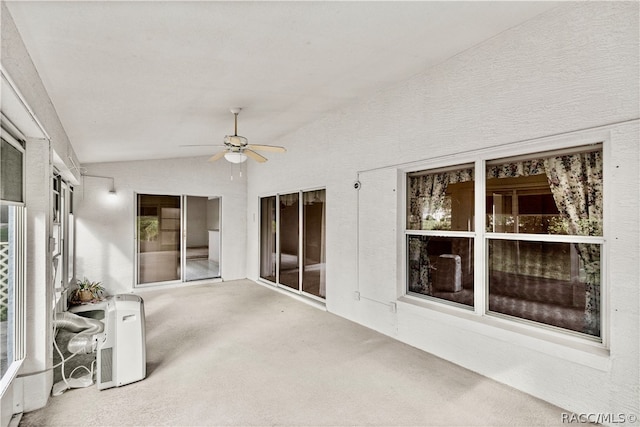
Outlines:
{"type": "Polygon", "coordinates": [[[570,411],[640,414],[638,22],[637,3],[562,4],[279,140],[288,152],[249,170],[248,277],[259,197],[324,186],[329,311],[570,411]],[[594,139],[605,140],[605,349],[398,299],[403,164],[594,139]]]}

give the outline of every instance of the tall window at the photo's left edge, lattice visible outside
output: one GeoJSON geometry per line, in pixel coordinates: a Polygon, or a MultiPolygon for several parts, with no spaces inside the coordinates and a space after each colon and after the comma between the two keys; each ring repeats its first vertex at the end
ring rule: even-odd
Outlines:
{"type": "Polygon", "coordinates": [[[24,148],[5,133],[0,146],[0,392],[24,357],[24,148]]]}

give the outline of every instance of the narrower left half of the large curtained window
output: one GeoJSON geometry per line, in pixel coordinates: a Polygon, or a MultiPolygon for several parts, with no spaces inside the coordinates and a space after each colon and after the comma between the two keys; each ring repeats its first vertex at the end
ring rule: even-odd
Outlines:
{"type": "Polygon", "coordinates": [[[407,177],[408,291],[473,307],[472,166],[407,177]]]}

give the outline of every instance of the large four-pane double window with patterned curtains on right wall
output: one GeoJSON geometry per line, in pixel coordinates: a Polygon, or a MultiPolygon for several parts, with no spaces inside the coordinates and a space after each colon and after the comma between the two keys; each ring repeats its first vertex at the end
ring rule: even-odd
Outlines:
{"type": "Polygon", "coordinates": [[[480,314],[601,338],[601,146],[481,166],[480,204],[471,169],[408,174],[407,292],[466,307],[481,292],[480,314]]]}

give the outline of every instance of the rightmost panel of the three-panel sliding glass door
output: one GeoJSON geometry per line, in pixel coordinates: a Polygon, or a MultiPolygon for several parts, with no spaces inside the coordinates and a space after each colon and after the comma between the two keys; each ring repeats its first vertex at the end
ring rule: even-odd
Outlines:
{"type": "Polygon", "coordinates": [[[303,195],[304,261],[302,290],[325,297],[325,190],[303,195]]]}

